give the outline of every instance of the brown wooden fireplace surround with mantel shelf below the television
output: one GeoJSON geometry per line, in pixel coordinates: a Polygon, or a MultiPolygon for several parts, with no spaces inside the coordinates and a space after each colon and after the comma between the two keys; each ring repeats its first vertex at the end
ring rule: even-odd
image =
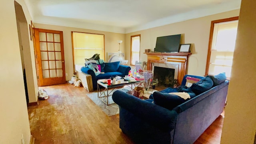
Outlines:
{"type": "Polygon", "coordinates": [[[190,52],[145,52],[148,56],[147,70],[153,70],[153,66],[164,68],[173,68],[174,79],[180,85],[184,75],[187,74],[188,58],[192,54],[190,52]]]}

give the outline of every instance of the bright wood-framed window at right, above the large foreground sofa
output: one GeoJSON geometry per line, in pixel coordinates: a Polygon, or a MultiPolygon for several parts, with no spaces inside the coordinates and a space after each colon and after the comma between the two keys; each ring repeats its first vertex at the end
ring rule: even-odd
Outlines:
{"type": "Polygon", "coordinates": [[[212,21],[206,75],[226,72],[230,78],[238,17],[212,21]]]}

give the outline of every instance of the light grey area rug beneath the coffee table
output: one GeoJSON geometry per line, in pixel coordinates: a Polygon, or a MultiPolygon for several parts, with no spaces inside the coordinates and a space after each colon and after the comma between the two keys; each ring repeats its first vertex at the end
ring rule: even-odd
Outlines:
{"type": "MultiPolygon", "coordinates": [[[[119,88],[119,89],[114,89],[114,91],[116,90],[122,90],[124,88],[119,88]]],[[[99,106],[103,112],[105,112],[105,114],[107,116],[114,116],[116,114],[119,114],[119,107],[117,104],[111,104],[114,103],[114,101],[112,100],[112,96],[108,97],[108,102],[110,103],[110,105],[106,105],[104,104],[104,102],[102,102],[99,98],[98,98],[98,92],[92,92],[90,94],[87,94],[87,96],[97,105],[99,106]]]]}

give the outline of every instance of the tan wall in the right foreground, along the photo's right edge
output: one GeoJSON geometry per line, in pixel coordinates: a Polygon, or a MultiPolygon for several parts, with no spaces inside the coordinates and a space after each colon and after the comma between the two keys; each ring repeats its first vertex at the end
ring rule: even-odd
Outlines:
{"type": "Polygon", "coordinates": [[[255,144],[256,1],[242,0],[222,144],[255,144]]]}

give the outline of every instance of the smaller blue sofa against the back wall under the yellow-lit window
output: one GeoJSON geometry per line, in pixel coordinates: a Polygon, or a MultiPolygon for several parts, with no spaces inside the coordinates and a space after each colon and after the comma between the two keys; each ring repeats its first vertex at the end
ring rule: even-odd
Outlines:
{"type": "Polygon", "coordinates": [[[130,66],[120,65],[120,62],[104,62],[100,64],[100,67],[100,72],[104,72],[104,74],[98,74],[97,76],[92,69],[85,66],[81,67],[82,72],[92,76],[92,86],[94,90],[97,89],[97,80],[115,76],[124,77],[125,75],[128,75],[129,71],[131,70],[130,66]]]}

